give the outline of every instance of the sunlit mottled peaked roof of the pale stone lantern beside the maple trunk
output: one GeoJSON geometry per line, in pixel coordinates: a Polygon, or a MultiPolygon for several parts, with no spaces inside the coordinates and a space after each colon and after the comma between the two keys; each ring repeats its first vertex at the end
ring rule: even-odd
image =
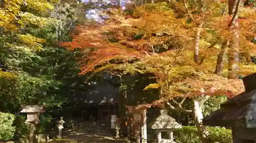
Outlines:
{"type": "Polygon", "coordinates": [[[162,109],[161,115],[151,124],[152,129],[178,129],[182,126],[174,118],[167,115],[167,111],[162,109]]]}

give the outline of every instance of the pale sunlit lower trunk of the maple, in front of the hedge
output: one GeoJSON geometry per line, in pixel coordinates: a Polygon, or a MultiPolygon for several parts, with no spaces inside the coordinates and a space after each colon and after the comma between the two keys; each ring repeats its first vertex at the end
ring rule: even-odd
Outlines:
{"type": "Polygon", "coordinates": [[[198,134],[202,143],[206,142],[206,139],[209,135],[209,132],[206,130],[206,127],[203,125],[203,113],[202,113],[202,103],[198,100],[193,101],[194,109],[193,109],[193,118],[196,124],[198,134]]]}

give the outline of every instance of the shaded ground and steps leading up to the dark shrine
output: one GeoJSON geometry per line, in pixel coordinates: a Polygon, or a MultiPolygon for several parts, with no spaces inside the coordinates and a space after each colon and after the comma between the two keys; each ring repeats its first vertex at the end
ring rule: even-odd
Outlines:
{"type": "Polygon", "coordinates": [[[113,137],[114,132],[110,129],[109,123],[81,122],[69,125],[62,133],[61,139],[50,141],[51,143],[123,143],[122,139],[113,137]]]}

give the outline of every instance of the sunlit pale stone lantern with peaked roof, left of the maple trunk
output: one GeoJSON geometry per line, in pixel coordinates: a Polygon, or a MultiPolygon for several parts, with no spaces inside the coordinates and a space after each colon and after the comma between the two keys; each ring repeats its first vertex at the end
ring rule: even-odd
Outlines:
{"type": "Polygon", "coordinates": [[[177,123],[174,118],[167,115],[167,110],[165,109],[161,110],[161,115],[151,124],[151,128],[157,131],[157,142],[175,143],[175,141],[173,141],[173,131],[181,127],[182,126],[177,123]],[[162,138],[162,132],[167,132],[166,139],[162,138]]]}

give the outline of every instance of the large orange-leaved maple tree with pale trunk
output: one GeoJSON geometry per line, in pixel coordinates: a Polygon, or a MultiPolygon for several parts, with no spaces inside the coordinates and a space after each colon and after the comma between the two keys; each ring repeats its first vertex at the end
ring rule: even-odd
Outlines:
{"type": "Polygon", "coordinates": [[[202,126],[201,106],[210,96],[243,92],[242,81],[236,78],[255,69],[248,61],[255,55],[251,42],[255,14],[240,1],[232,2],[205,1],[188,7],[185,1],[167,1],[111,9],[103,13],[109,17],[104,23],[77,27],[74,40],[62,45],[90,54],[80,61],[86,63],[81,74],[120,67],[126,72],[154,73],[157,83],[145,89],[160,89],[161,98],[155,103],[192,114],[205,142],[208,133],[202,126]],[[113,59],[123,61],[113,64],[113,59]],[[193,99],[193,109],[182,107],[187,98],[193,99]]]}

